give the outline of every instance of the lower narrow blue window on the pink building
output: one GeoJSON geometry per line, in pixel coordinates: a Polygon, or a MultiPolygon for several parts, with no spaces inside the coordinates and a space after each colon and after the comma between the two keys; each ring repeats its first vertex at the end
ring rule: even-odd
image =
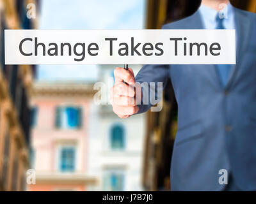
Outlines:
{"type": "Polygon", "coordinates": [[[60,150],[60,171],[74,172],[76,170],[75,147],[62,147],[60,150]]]}

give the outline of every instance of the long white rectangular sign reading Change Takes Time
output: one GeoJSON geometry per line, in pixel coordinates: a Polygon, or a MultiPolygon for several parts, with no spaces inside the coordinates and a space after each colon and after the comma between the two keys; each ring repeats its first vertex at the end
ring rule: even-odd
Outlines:
{"type": "Polygon", "coordinates": [[[5,30],[6,64],[236,64],[235,30],[5,30]]]}

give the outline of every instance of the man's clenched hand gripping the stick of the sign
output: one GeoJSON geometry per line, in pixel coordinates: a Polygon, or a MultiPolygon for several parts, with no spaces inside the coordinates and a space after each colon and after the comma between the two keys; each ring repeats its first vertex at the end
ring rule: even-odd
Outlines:
{"type": "Polygon", "coordinates": [[[131,68],[128,70],[116,68],[114,75],[115,85],[110,89],[110,103],[113,106],[113,112],[121,119],[126,119],[139,111],[139,107],[136,105],[136,90],[141,96],[141,88],[135,84],[131,68]]]}

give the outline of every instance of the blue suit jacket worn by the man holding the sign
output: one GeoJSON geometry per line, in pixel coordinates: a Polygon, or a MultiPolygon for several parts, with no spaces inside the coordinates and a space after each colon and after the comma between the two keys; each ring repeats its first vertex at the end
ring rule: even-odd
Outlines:
{"type": "MultiPolygon", "coordinates": [[[[226,87],[214,65],[145,65],[138,82],[171,78],[178,103],[173,148],[174,191],[218,191],[219,170],[241,190],[256,190],[256,15],[234,8],[237,63],[226,87]]],[[[200,12],[163,29],[204,29],[200,12]]],[[[140,105],[146,112],[150,105],[140,105]]]]}

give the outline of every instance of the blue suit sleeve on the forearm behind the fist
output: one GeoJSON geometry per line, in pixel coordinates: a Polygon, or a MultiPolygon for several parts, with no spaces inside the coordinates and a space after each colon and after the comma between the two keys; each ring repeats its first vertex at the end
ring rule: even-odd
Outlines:
{"type": "MultiPolygon", "coordinates": [[[[170,65],[145,65],[138,75],[136,75],[136,82],[141,84],[141,104],[138,105],[140,110],[138,113],[147,112],[152,106],[156,105],[162,96],[163,90],[157,88],[157,82],[163,83],[163,89],[170,77],[170,65]]],[[[159,84],[159,83],[158,83],[159,84]]]]}

